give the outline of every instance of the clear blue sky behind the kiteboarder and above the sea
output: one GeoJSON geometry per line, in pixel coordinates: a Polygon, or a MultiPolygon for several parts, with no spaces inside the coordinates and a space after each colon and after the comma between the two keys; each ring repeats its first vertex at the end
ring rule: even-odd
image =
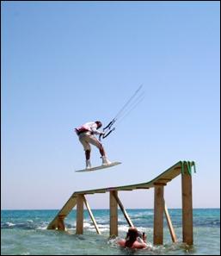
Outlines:
{"type": "MultiPolygon", "coordinates": [[[[60,209],[74,191],[149,181],[194,160],[193,207],[220,204],[219,2],[1,2],[2,209],[60,209]],[[107,125],[145,97],[103,145],[122,165],[93,173],[73,129],[107,125]]],[[[101,164],[96,148],[92,164],[101,164]]],[[[152,208],[152,190],[120,193],[152,208]]],[[[165,187],[181,207],[181,178],[165,187]]],[[[108,208],[108,195],[89,196],[108,208]]]]}

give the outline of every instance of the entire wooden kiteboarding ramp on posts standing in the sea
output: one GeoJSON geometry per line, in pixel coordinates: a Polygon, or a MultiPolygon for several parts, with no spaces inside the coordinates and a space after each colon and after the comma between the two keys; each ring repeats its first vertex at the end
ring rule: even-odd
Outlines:
{"type": "Polygon", "coordinates": [[[118,187],[107,187],[96,190],[83,190],[74,192],[64,207],[54,217],[47,229],[65,230],[64,218],[69,215],[71,210],[77,205],[77,227],[76,234],[83,234],[83,203],[89,211],[90,218],[95,225],[97,234],[101,234],[95,217],[89,208],[89,203],[85,195],[96,193],[109,193],[110,199],[110,236],[118,235],[118,206],[126,218],[126,222],[130,227],[133,226],[129,215],[123,203],[120,202],[118,191],[126,190],[148,190],[154,189],[154,227],[153,227],[153,243],[155,245],[163,245],[163,212],[166,216],[169,233],[173,242],[177,241],[175,230],[173,228],[169,210],[167,209],[163,193],[164,186],[172,179],[181,174],[181,199],[182,199],[182,241],[187,245],[193,245],[193,202],[192,202],[192,167],[195,172],[195,163],[193,161],[179,161],[171,166],[165,172],[162,172],[157,178],[141,184],[130,184],[118,187]]]}

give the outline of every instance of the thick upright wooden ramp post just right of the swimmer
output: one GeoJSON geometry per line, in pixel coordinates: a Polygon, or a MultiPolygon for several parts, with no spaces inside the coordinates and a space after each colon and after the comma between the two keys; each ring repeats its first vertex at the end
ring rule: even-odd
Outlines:
{"type": "Polygon", "coordinates": [[[163,245],[163,185],[154,187],[154,245],[163,245]]]}

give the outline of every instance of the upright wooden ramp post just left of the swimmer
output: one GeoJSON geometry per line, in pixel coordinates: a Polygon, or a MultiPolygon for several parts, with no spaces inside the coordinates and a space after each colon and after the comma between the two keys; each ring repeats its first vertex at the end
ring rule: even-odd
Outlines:
{"type": "Polygon", "coordinates": [[[118,236],[118,191],[110,191],[110,236],[118,236]],[[115,196],[115,197],[114,197],[115,196]]]}

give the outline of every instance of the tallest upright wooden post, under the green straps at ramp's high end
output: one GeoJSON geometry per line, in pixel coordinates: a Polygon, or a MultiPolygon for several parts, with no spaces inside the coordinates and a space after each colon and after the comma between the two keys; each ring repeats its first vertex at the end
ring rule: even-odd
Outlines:
{"type": "Polygon", "coordinates": [[[193,203],[192,203],[192,176],[187,172],[187,165],[181,175],[182,190],[182,241],[193,245],[193,203]]]}

